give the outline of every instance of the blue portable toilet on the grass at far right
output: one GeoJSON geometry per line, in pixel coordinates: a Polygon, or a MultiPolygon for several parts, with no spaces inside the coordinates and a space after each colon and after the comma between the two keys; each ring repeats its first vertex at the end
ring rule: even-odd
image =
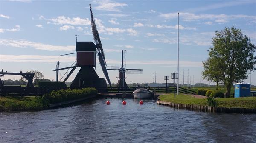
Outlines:
{"type": "Polygon", "coordinates": [[[236,83],[235,84],[235,98],[247,97],[250,95],[250,84],[247,83],[236,83]]]}

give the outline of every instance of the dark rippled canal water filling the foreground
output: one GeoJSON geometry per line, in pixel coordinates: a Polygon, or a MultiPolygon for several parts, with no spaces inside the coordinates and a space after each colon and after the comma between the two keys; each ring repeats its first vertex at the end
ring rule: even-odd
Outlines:
{"type": "Polygon", "coordinates": [[[98,99],[41,112],[0,113],[0,143],[256,143],[256,115],[98,99]]]}

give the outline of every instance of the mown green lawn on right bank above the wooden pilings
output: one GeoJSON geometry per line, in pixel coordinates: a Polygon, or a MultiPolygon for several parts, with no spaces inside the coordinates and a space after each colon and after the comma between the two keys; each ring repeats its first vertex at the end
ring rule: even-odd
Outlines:
{"type": "MultiPolygon", "coordinates": [[[[189,104],[189,105],[203,105],[208,106],[205,99],[194,98],[190,95],[160,95],[160,101],[189,104]]],[[[256,97],[244,97],[244,98],[217,98],[218,107],[231,107],[231,108],[256,108],[256,97]]]]}

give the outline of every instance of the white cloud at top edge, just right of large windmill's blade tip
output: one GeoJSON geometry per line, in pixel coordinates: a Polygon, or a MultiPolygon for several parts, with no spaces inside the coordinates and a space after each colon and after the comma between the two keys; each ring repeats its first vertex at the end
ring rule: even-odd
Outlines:
{"type": "Polygon", "coordinates": [[[121,11],[119,8],[128,6],[126,3],[117,3],[111,0],[95,0],[93,3],[99,4],[99,6],[93,7],[99,11],[121,11]]]}

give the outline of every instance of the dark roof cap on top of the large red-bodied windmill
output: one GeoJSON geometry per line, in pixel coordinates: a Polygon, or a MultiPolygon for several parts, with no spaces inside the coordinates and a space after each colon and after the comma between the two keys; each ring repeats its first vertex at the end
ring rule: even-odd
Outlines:
{"type": "Polygon", "coordinates": [[[93,42],[76,42],[76,51],[96,51],[96,45],[93,42]]]}

